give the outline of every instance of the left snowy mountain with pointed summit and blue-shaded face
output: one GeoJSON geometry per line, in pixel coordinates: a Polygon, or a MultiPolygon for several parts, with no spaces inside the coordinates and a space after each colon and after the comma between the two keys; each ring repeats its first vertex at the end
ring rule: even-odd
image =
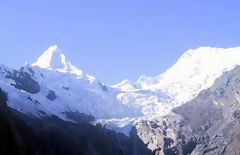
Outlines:
{"type": "Polygon", "coordinates": [[[121,104],[112,88],[73,66],[57,46],[20,70],[1,66],[0,83],[9,95],[9,106],[26,114],[56,115],[64,120],[71,120],[66,116],[68,112],[85,113],[97,119],[141,115],[140,111],[121,104]]]}

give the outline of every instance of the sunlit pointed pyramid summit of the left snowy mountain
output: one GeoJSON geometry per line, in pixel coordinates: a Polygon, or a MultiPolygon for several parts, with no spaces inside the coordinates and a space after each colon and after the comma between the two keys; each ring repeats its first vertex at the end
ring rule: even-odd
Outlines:
{"type": "Polygon", "coordinates": [[[50,46],[32,66],[82,76],[83,72],[73,66],[57,45],[50,46]]]}

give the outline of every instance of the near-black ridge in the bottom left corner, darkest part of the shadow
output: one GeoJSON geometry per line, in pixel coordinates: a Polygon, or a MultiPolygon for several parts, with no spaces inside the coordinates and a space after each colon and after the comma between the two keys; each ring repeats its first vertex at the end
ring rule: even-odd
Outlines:
{"type": "Polygon", "coordinates": [[[7,96],[0,90],[0,154],[37,155],[37,140],[33,132],[17,118],[12,116],[6,105],[7,96]]]}

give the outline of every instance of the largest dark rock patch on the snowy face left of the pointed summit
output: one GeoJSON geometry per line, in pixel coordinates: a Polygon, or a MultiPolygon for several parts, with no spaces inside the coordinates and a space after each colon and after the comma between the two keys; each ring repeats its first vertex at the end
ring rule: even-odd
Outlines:
{"type": "Polygon", "coordinates": [[[36,80],[33,79],[34,71],[31,68],[27,68],[29,72],[24,71],[24,68],[18,70],[13,70],[10,72],[5,70],[8,74],[6,78],[12,79],[15,81],[15,84],[12,84],[16,89],[24,90],[31,94],[37,94],[40,91],[40,86],[36,80]]]}

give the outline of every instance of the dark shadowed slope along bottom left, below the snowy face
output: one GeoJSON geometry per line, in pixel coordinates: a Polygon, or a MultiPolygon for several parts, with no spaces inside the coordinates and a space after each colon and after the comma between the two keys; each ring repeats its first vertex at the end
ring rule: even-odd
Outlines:
{"type": "Polygon", "coordinates": [[[6,101],[0,91],[1,155],[145,155],[148,150],[141,140],[137,143],[143,148],[134,148],[132,138],[91,125],[89,116],[68,114],[78,123],[55,116],[39,119],[7,107],[6,101]],[[87,119],[79,121],[82,116],[87,119]]]}

